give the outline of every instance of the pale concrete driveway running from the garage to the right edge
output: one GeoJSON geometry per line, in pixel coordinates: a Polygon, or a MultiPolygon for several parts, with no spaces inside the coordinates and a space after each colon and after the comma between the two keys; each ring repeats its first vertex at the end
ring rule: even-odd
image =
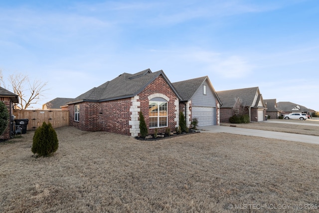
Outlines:
{"type": "Polygon", "coordinates": [[[225,127],[225,126],[206,126],[199,127],[200,132],[211,132],[218,133],[224,132],[229,134],[238,134],[238,135],[248,135],[248,136],[257,136],[263,138],[274,138],[287,141],[297,141],[303,143],[319,144],[319,136],[313,135],[301,135],[285,132],[273,132],[265,130],[256,130],[256,129],[246,129],[238,127],[225,127]]]}

